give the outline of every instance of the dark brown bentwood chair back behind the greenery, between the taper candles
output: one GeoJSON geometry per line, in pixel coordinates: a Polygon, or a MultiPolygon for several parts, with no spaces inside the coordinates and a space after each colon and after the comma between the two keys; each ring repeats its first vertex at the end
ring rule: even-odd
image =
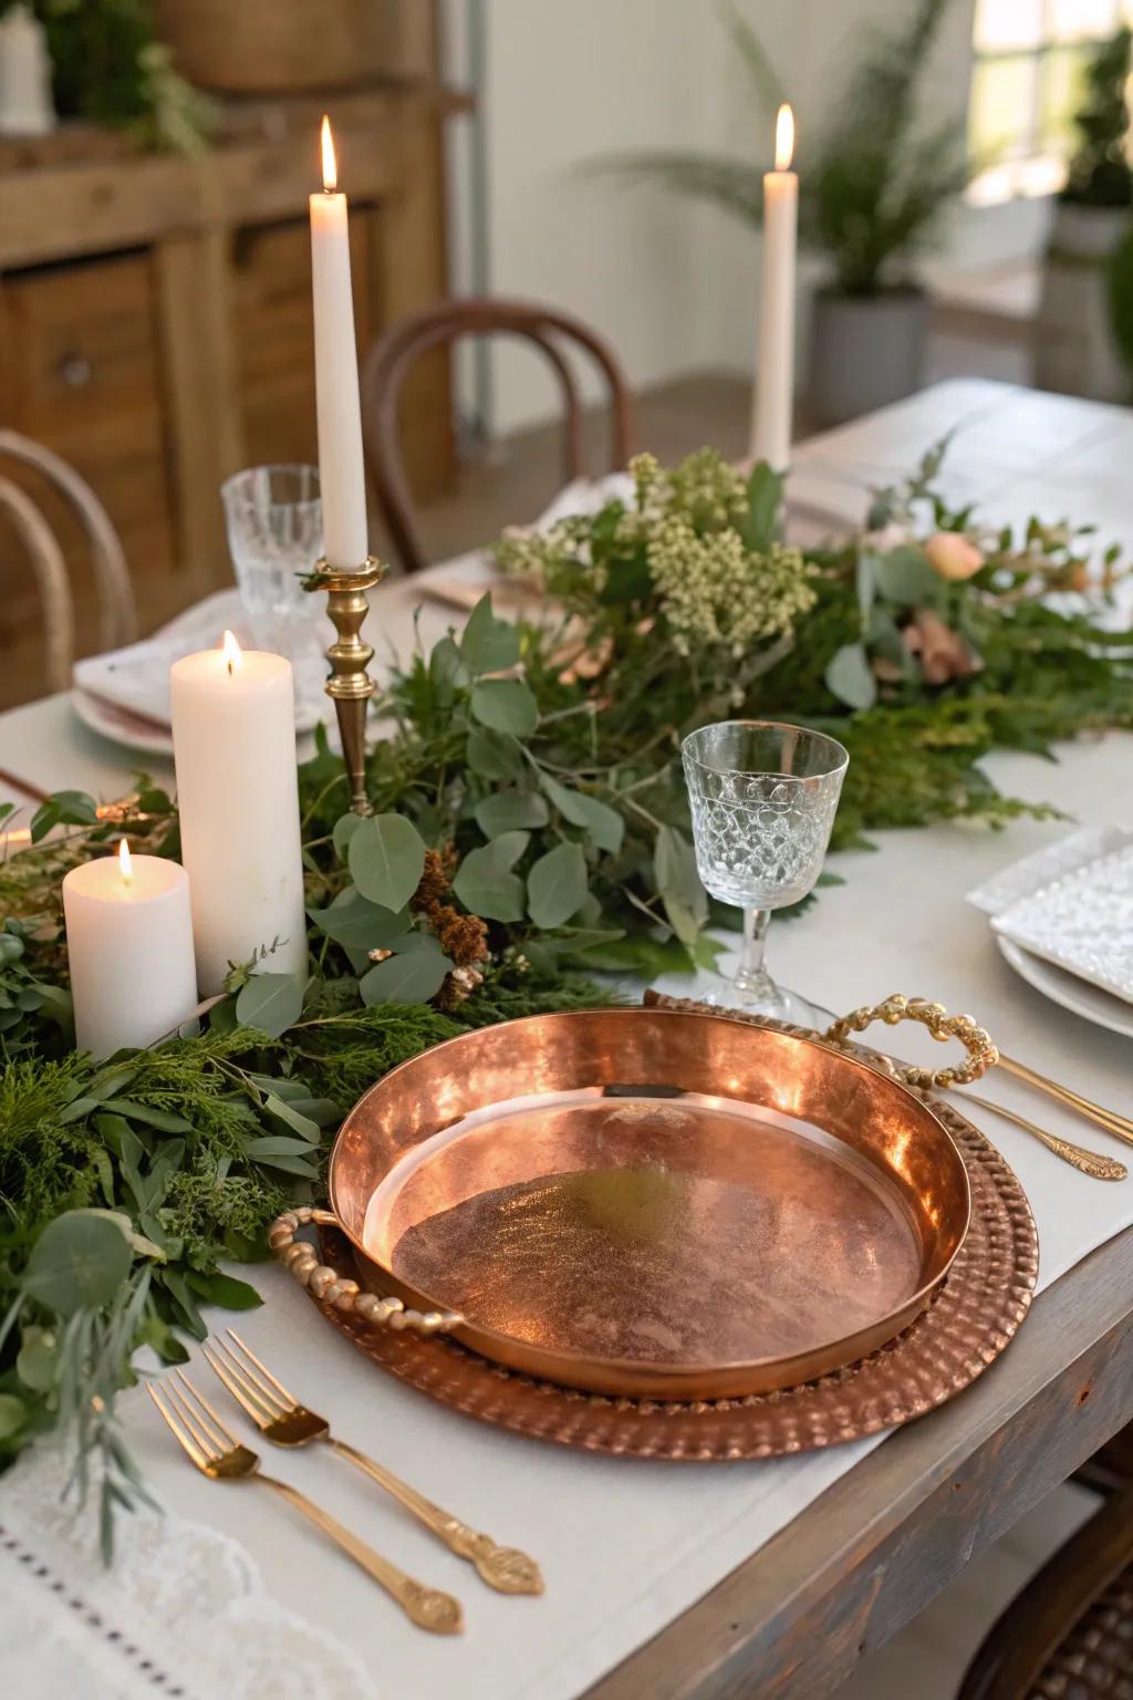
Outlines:
{"type": "Polygon", "coordinates": [[[397,403],[406,374],[431,348],[464,337],[518,337],[537,347],[566,401],[564,483],[583,474],[583,401],[567,350],[588,355],[605,377],[612,406],[612,454],[603,471],[620,471],[630,457],[630,393],[622,366],[586,325],[537,301],[474,296],[447,301],[394,325],[370,350],[362,374],[362,427],[377,505],[406,573],[420,571],[425,549],[413,513],[397,432],[397,403]]]}

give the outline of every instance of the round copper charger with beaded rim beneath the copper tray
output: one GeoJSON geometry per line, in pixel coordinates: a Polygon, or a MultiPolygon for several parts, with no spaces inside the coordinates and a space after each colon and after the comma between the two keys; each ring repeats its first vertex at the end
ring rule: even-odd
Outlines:
{"type": "MultiPolygon", "coordinates": [[[[854,1047],[858,1049],[858,1047],[854,1047]]],[[[924,1416],[1007,1348],[1038,1278],[1038,1232],[1017,1176],[953,1105],[916,1093],[956,1142],[972,1188],[965,1243],[927,1309],[870,1357],[778,1392],[673,1402],[586,1394],[533,1380],[443,1336],[369,1328],[314,1304],[369,1358],[448,1409],[586,1452],[724,1462],[817,1450],[924,1416]]],[[[323,1256],[352,1270],[350,1241],[323,1256]]]]}

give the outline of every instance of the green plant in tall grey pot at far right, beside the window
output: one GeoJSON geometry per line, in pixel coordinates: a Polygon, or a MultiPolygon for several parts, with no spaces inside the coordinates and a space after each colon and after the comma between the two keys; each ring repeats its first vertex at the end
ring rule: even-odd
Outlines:
{"type": "Polygon", "coordinates": [[[1074,117],[1079,146],[1055,202],[1034,320],[1036,382],[1099,401],[1126,401],[1130,389],[1113,335],[1108,264],[1133,206],[1126,156],[1131,56],[1133,32],[1121,29],[1085,70],[1074,117]]]}

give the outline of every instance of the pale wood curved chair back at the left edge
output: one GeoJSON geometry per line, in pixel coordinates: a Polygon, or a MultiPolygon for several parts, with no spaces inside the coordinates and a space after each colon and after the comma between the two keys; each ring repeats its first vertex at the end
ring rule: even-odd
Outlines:
{"type": "MultiPolygon", "coordinates": [[[[29,469],[76,515],[90,552],[99,598],[99,648],[117,649],[136,632],[134,588],[107,510],[85,478],[51,449],[0,430],[0,464],[29,469]]],[[[49,690],[66,690],[75,661],[75,602],[63,547],[39,503],[22,483],[0,473],[0,513],[7,515],[27,556],[44,619],[44,673],[49,690]]]]}

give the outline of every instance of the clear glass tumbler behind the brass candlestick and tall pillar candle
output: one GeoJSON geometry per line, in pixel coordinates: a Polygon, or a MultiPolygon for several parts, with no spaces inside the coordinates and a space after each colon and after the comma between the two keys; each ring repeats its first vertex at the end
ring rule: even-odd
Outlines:
{"type": "Polygon", "coordinates": [[[221,500],[256,644],[304,660],[318,644],[319,598],[301,583],[323,554],[318,468],[250,466],[221,484],[221,500]]]}

